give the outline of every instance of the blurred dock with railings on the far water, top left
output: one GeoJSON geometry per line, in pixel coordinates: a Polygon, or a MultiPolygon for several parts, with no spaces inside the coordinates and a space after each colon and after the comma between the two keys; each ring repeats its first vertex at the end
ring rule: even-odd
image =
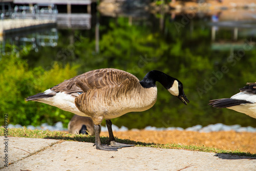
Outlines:
{"type": "Polygon", "coordinates": [[[10,3],[17,6],[10,14],[3,13],[2,16],[10,19],[0,18],[0,37],[42,27],[91,29],[91,4],[96,3],[96,0],[0,0],[1,3],[2,6],[8,6],[10,3]],[[58,13],[56,5],[67,5],[67,13],[58,13]],[[72,5],[84,5],[87,7],[87,13],[72,13],[72,5]],[[41,10],[42,8],[44,9],[41,10]]]}

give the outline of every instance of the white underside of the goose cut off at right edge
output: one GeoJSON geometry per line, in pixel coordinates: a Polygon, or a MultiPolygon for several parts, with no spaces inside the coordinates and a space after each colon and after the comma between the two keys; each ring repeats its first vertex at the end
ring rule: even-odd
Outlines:
{"type": "Polygon", "coordinates": [[[232,109],[237,112],[244,113],[250,117],[256,118],[256,103],[245,103],[240,105],[235,105],[228,107],[228,109],[232,109]]]}

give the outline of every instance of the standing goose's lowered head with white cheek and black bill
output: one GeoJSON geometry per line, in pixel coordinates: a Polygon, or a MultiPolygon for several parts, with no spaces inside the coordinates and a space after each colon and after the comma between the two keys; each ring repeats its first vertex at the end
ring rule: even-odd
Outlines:
{"type": "Polygon", "coordinates": [[[184,94],[183,85],[178,79],[174,79],[173,84],[170,86],[170,88],[167,88],[167,90],[170,92],[170,94],[178,97],[185,105],[189,103],[189,100],[184,94]]]}

